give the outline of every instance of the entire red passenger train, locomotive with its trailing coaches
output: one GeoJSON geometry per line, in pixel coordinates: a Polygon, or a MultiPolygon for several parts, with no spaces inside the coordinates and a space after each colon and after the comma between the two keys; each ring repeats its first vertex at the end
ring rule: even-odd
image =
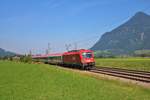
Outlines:
{"type": "Polygon", "coordinates": [[[64,53],[33,55],[33,61],[61,66],[90,69],[95,66],[94,54],[91,50],[80,49],[64,53]]]}

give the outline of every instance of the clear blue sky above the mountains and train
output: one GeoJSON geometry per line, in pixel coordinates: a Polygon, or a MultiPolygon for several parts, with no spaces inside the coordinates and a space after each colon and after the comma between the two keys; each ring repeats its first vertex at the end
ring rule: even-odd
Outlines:
{"type": "Polygon", "coordinates": [[[17,53],[65,51],[65,44],[90,48],[100,36],[138,11],[150,14],[149,0],[0,0],[0,47],[17,53]]]}

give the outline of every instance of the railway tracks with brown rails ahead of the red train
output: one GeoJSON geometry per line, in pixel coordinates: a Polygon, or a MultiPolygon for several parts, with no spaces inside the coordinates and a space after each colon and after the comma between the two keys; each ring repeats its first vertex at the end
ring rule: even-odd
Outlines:
{"type": "Polygon", "coordinates": [[[94,73],[100,73],[150,83],[150,72],[148,71],[137,71],[120,68],[108,68],[108,67],[99,67],[99,68],[94,67],[89,71],[94,73]]]}

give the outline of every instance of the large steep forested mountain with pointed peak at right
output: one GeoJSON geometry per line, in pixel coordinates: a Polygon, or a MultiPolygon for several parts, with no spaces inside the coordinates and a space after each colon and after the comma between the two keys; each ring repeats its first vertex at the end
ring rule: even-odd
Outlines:
{"type": "Polygon", "coordinates": [[[150,49],[150,15],[136,13],[126,23],[102,35],[91,50],[107,50],[114,54],[129,54],[150,49]]]}

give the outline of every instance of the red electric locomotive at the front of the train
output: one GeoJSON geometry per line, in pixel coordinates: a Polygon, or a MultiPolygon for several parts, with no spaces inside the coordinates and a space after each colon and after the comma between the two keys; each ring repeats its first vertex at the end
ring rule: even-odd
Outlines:
{"type": "Polygon", "coordinates": [[[94,54],[91,50],[72,50],[63,54],[63,64],[89,69],[95,66],[94,54]]]}

